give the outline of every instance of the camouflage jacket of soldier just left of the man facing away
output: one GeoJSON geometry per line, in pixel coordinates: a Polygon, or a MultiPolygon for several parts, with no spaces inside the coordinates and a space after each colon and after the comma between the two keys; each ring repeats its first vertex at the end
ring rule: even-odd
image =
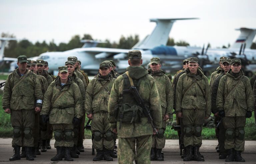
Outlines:
{"type": "Polygon", "coordinates": [[[108,111],[108,99],[115,80],[110,74],[107,77],[102,77],[98,74],[90,81],[85,92],[86,114],[108,111]],[[109,83],[101,89],[106,82],[109,83]]]}

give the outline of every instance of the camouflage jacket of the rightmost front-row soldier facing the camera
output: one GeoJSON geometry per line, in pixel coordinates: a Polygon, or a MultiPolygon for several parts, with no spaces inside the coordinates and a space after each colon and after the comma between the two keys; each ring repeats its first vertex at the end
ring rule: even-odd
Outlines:
{"type": "Polygon", "coordinates": [[[253,111],[253,95],[249,79],[240,71],[238,75],[231,69],[220,79],[216,105],[218,110],[224,110],[225,116],[245,116],[246,111],[253,111]],[[235,77],[238,76],[238,77],[235,77]],[[232,94],[227,97],[232,88],[239,82],[232,94]],[[225,100],[226,99],[226,100],[225,100]]]}

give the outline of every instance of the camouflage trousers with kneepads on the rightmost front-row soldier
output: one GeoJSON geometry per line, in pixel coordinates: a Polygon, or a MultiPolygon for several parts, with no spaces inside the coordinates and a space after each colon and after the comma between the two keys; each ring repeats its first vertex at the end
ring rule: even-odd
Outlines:
{"type": "Polygon", "coordinates": [[[244,126],[245,117],[223,117],[223,125],[226,130],[225,149],[235,148],[237,151],[244,151],[244,126]]]}

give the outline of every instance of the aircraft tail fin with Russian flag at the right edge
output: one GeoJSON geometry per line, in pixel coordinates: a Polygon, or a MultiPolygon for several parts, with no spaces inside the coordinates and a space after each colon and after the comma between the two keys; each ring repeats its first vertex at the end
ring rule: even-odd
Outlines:
{"type": "Polygon", "coordinates": [[[233,49],[233,48],[239,49],[243,43],[246,44],[246,47],[245,47],[246,49],[250,49],[253,39],[256,35],[256,29],[242,27],[236,30],[240,30],[241,34],[239,35],[235,43],[230,47],[230,49],[233,49]]]}

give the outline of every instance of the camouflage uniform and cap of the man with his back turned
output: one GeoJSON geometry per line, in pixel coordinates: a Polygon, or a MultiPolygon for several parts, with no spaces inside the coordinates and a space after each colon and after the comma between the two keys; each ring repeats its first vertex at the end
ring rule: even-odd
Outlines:
{"type": "MultiPolygon", "coordinates": [[[[129,59],[134,58],[134,56],[141,58],[141,53],[138,50],[133,50],[128,53],[128,56],[129,59]]],[[[156,128],[161,128],[162,111],[160,105],[160,97],[154,79],[152,76],[148,75],[148,72],[144,70],[143,67],[130,66],[127,68],[127,71],[136,85],[140,81],[138,87],[139,94],[144,99],[145,103],[150,106],[151,116],[156,128]]],[[[108,103],[110,125],[111,128],[117,128],[119,137],[118,163],[130,164],[135,160],[135,162],[138,164],[149,164],[153,128],[150,123],[148,123],[148,118],[142,116],[140,118],[140,122],[138,123],[123,122],[120,124],[119,121],[117,122],[117,119],[114,115],[116,105],[126,101],[126,99],[121,99],[120,97],[120,95],[123,94],[126,78],[128,78],[126,74],[123,74],[117,78],[112,87],[108,103]],[[135,144],[137,151],[136,155],[135,144]]],[[[129,98],[132,98],[132,96],[129,96],[129,98]]],[[[134,98],[131,99],[131,103],[137,104],[134,98]]]]}

